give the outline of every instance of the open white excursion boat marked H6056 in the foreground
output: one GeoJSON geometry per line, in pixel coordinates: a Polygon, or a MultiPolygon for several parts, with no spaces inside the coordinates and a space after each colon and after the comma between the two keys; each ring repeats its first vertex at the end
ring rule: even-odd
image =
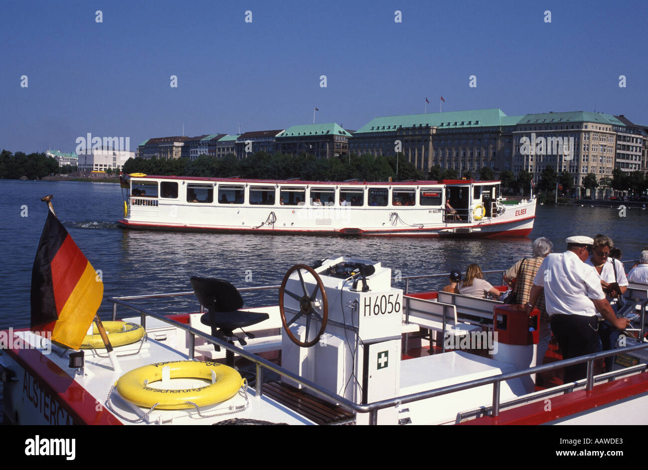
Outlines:
{"type": "MultiPolygon", "coordinates": [[[[392,287],[389,268],[351,257],[288,270],[278,306],[241,309],[237,289],[218,279],[194,277],[192,287],[109,299],[113,320],[118,307],[138,313],[122,328],[108,325],[112,358],[91,336],[89,349],[73,351],[28,331],[0,332],[4,419],[495,425],[623,416],[624,424],[648,423],[648,342],[534,368],[537,311],[529,317],[521,306],[448,292],[406,294],[392,287]],[[207,312],[165,316],[141,306],[194,295],[207,312]],[[421,336],[430,343],[437,336],[440,353],[408,356],[426,343],[421,336]],[[594,361],[605,355],[615,355],[616,370],[595,376],[594,361]],[[589,364],[586,379],[535,387],[534,374],[579,361],[589,364]]],[[[643,325],[648,286],[629,292],[643,325]]],[[[643,338],[643,327],[637,331],[643,338]]]]}

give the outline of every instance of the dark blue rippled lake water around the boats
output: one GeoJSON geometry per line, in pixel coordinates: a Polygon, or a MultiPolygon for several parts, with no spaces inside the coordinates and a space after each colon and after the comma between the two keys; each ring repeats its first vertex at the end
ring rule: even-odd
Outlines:
{"type": "MultiPolygon", "coordinates": [[[[533,239],[543,236],[559,252],[566,248],[564,239],[570,235],[605,233],[621,247],[623,259],[637,259],[648,245],[647,211],[632,209],[627,217],[619,217],[618,209],[589,206],[538,206],[533,233],[525,239],[442,241],[125,231],[115,223],[122,216],[118,184],[0,180],[0,329],[29,327],[32,263],[47,217],[47,206],[40,198],[47,194],[54,194],[58,218],[102,272],[104,303],[99,313],[103,319],[111,318],[111,306],[105,300],[111,296],[191,290],[191,276],[229,279],[237,287],[278,285],[294,264],[310,264],[331,255],[375,259],[400,270],[402,276],[416,276],[454,267],[465,270],[470,263],[480,264],[483,270],[506,269],[530,255],[533,239]]],[[[487,279],[495,283],[501,278],[487,279]]],[[[417,281],[411,288],[443,285],[445,279],[417,281]]],[[[244,298],[248,306],[277,303],[274,290],[244,298]]],[[[182,304],[156,310],[170,313],[196,308],[196,301],[188,297],[182,304]]],[[[120,317],[126,315],[130,314],[122,310],[120,317]]]]}

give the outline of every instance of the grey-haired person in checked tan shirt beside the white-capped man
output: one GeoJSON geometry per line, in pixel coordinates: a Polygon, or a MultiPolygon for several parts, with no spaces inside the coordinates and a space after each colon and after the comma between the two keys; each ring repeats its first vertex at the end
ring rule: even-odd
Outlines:
{"type": "MultiPolygon", "coordinates": [[[[542,260],[551,253],[552,248],[553,243],[551,243],[550,239],[546,237],[535,239],[533,241],[533,258],[520,259],[504,273],[505,283],[515,290],[515,303],[527,303],[529,301],[533,278],[540,269],[542,260]]],[[[536,362],[541,365],[551,340],[551,318],[544,306],[544,292],[538,297],[535,308],[540,311],[540,338],[538,340],[536,362]]]]}

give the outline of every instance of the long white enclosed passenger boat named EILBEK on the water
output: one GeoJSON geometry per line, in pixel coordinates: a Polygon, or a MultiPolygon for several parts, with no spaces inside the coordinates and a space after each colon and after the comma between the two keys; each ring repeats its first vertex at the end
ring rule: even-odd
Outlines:
{"type": "Polygon", "coordinates": [[[526,237],[535,198],[507,201],[500,182],[264,181],[122,177],[122,228],[305,235],[526,237]]]}

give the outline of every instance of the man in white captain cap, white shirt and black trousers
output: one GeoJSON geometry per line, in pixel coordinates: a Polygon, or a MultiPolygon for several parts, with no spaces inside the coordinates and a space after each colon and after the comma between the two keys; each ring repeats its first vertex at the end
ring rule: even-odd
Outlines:
{"type": "MultiPolygon", "coordinates": [[[[594,268],[585,264],[594,240],[590,237],[569,237],[567,251],[550,253],[542,261],[533,279],[533,287],[526,304],[533,310],[544,287],[547,313],[551,316],[551,331],[558,340],[562,357],[570,359],[596,353],[599,336],[596,311],[612,326],[623,330],[628,321],[616,318],[610,303],[605,299],[601,280],[594,268]]],[[[584,379],[587,363],[565,368],[565,382],[584,379]]]]}

